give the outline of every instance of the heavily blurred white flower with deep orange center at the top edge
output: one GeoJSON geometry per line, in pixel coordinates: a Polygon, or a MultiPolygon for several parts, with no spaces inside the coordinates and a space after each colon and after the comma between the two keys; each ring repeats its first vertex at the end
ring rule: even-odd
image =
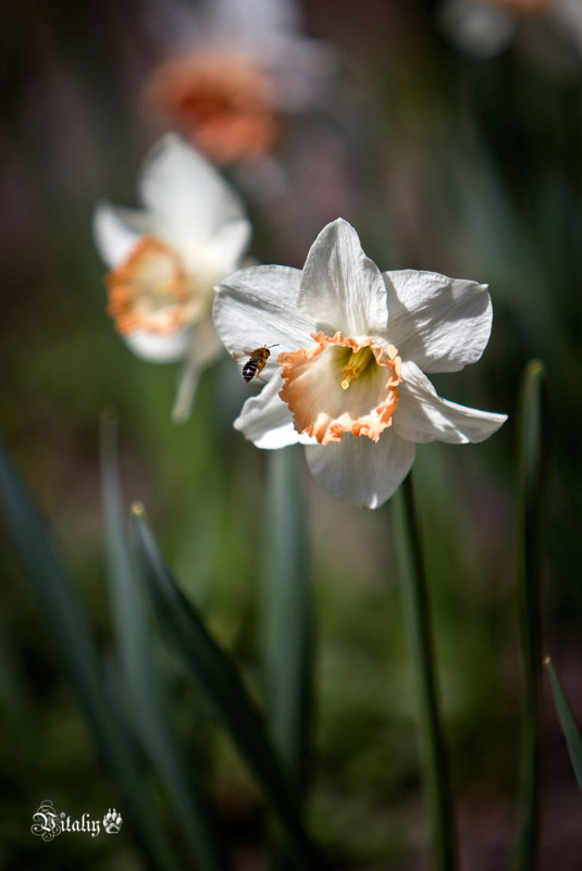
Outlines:
{"type": "Polygon", "coordinates": [[[296,0],[150,0],[150,12],[162,54],[144,110],[213,163],[273,153],[292,115],[329,102],[337,52],[305,36],[296,0]]]}

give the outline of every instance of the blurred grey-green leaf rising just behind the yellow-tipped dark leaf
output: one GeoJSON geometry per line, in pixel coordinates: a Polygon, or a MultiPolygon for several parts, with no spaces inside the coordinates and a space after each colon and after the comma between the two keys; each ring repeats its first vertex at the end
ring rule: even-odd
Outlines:
{"type": "Polygon", "coordinates": [[[196,780],[196,772],[188,771],[169,716],[169,700],[156,655],[158,639],[146,619],[127,544],[115,422],[109,418],[103,418],[101,422],[101,476],[108,578],[131,722],[165,784],[175,819],[196,868],[224,871],[228,863],[210,806],[196,780]]]}

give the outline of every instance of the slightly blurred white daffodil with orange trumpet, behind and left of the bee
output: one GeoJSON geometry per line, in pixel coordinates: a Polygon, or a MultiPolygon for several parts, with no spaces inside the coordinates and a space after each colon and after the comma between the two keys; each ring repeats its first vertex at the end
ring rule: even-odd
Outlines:
{"type": "Polygon", "coordinates": [[[240,265],[251,225],[220,173],[174,134],[146,158],[138,190],[143,210],[95,210],[95,241],[111,270],[108,312],[138,357],[185,360],[173,411],[185,420],[199,373],[222,351],[214,285],[240,265]]]}

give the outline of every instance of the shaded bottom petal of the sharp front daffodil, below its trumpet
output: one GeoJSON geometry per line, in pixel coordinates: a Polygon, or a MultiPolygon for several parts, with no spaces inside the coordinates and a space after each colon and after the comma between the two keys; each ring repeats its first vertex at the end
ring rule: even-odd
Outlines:
{"type": "Polygon", "coordinates": [[[306,448],[311,473],[334,499],[379,508],[398,489],[414,461],[416,446],[391,430],[377,444],[346,435],[342,441],[306,448]]]}

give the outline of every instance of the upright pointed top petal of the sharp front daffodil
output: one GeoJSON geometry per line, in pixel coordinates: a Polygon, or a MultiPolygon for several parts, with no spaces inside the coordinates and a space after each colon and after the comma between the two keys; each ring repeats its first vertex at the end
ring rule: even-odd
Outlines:
{"type": "Polygon", "coordinates": [[[301,277],[299,307],[333,335],[385,333],[388,322],[382,273],[362,251],[354,227],[337,219],[311,246],[301,277]]]}

